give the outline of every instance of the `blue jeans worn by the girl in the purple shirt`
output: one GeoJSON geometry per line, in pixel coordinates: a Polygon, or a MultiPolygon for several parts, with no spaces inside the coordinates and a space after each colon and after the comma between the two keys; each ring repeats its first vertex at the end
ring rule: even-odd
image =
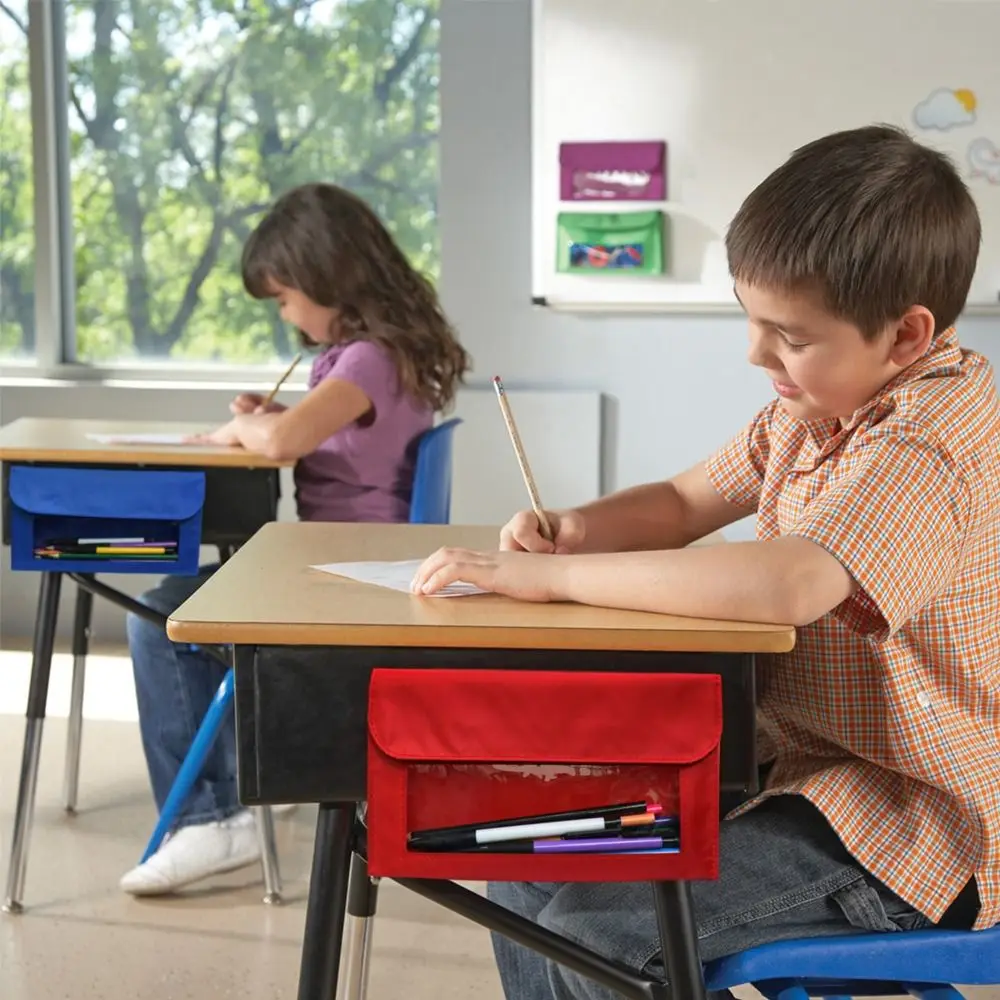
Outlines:
{"type": "MultiPolygon", "coordinates": [[[[139,600],[170,615],[217,568],[203,567],[197,576],[164,577],[139,600]]],[[[126,630],[146,767],[156,808],[162,811],[226,667],[185,643],[171,642],[163,629],[135,615],[128,616],[126,630]]],[[[223,820],[241,808],[236,785],[236,725],[230,713],[175,827],[223,820]]]]}

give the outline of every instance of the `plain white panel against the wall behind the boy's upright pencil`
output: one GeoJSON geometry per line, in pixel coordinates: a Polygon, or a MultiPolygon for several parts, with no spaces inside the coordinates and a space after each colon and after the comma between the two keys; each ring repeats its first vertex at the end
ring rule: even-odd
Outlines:
{"type": "MultiPolygon", "coordinates": [[[[518,433],[551,509],[588,503],[601,492],[601,394],[507,386],[518,433]]],[[[531,504],[496,394],[463,389],[455,416],[452,524],[505,524],[531,504]]]]}

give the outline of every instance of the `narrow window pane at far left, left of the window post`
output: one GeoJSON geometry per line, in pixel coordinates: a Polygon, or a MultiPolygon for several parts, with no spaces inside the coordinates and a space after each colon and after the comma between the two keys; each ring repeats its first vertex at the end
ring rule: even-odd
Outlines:
{"type": "Polygon", "coordinates": [[[0,356],[35,346],[28,0],[0,4],[0,356]]]}

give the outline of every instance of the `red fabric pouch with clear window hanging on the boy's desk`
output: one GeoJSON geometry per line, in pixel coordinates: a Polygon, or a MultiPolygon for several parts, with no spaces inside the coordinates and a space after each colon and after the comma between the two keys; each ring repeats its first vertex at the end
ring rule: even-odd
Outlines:
{"type": "Polygon", "coordinates": [[[718,675],[376,669],[368,734],[372,875],[717,877],[718,675]],[[659,803],[661,817],[677,818],[677,853],[446,853],[408,846],[414,831],[641,801],[659,803]]]}

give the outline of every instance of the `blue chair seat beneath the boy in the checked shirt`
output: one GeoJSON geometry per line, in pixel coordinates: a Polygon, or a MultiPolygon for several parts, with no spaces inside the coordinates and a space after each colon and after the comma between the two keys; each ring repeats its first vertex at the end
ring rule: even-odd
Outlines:
{"type": "Polygon", "coordinates": [[[779,941],[705,965],[709,990],[752,985],[768,1000],[907,993],[962,1000],[952,982],[1000,985],[1000,927],[779,941]]]}

